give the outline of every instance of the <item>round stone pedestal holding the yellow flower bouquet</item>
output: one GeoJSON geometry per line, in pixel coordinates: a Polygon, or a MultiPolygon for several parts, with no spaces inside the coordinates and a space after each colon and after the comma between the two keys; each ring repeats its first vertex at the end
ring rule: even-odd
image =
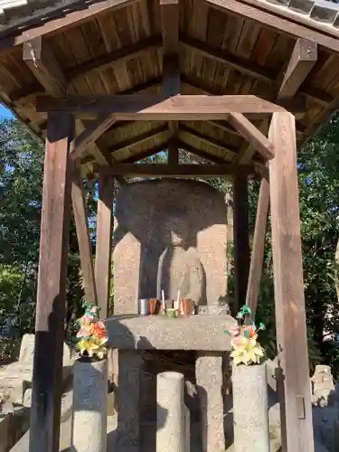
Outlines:
{"type": "Polygon", "coordinates": [[[234,366],[235,452],[269,452],[266,364],[234,366]]]}

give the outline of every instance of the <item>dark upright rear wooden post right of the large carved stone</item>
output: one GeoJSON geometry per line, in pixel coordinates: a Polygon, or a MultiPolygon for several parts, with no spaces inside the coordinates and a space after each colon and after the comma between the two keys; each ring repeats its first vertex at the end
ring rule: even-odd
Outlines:
{"type": "Polygon", "coordinates": [[[236,174],[233,180],[234,288],[237,313],[246,302],[250,271],[249,192],[247,174],[236,174]]]}

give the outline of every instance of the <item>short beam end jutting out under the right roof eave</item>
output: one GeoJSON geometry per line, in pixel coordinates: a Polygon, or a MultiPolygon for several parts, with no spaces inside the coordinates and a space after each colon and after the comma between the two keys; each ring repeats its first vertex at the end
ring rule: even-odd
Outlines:
{"type": "Polygon", "coordinates": [[[317,60],[317,44],[297,39],[287,69],[278,89],[278,99],[291,98],[300,88],[317,60]]]}

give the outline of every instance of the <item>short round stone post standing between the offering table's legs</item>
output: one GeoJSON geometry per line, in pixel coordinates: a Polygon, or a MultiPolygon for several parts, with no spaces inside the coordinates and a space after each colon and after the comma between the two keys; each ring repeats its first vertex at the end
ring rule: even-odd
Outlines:
{"type": "Polygon", "coordinates": [[[156,450],[186,452],[184,375],[159,373],[156,380],[156,450]]]}

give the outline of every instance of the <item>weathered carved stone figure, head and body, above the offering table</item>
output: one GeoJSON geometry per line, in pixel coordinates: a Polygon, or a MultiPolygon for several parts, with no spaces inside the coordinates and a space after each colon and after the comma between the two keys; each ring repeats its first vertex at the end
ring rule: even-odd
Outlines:
{"type": "Polygon", "coordinates": [[[184,210],[166,208],[165,231],[161,231],[165,250],[160,256],[156,292],[161,297],[175,300],[178,290],[181,298],[191,298],[198,305],[206,304],[206,278],[196,250],[189,246],[190,227],[184,210]]]}

